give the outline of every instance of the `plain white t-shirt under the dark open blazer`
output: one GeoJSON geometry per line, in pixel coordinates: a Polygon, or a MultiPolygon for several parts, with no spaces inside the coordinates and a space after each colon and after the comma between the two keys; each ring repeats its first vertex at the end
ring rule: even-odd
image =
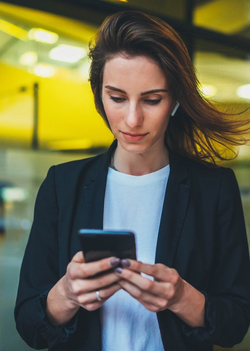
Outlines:
{"type": "MultiPolygon", "coordinates": [[[[154,264],[169,170],[131,176],[108,169],[103,229],[133,231],[144,263],[154,264]]],[[[101,339],[102,351],[164,351],[156,313],[124,290],[101,307],[101,339]]]]}

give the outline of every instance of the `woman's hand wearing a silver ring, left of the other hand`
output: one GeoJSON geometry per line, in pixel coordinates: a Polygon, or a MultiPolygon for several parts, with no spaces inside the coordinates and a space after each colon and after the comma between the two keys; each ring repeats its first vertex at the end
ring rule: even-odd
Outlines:
{"type": "Polygon", "coordinates": [[[85,263],[83,252],[77,252],[63,277],[65,293],[72,309],[81,306],[88,311],[96,310],[120,290],[117,283],[120,278],[113,271],[108,271],[119,263],[120,259],[116,257],[85,263]],[[93,277],[102,272],[100,276],[93,277]],[[97,291],[101,301],[98,301],[97,291]]]}

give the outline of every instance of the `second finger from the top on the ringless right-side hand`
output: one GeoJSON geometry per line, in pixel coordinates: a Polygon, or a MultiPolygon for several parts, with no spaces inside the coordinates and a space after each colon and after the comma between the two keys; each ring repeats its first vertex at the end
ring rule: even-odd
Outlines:
{"type": "Polygon", "coordinates": [[[171,283],[165,283],[162,282],[156,282],[155,280],[151,280],[149,278],[143,277],[137,272],[134,272],[130,269],[124,268],[120,269],[118,268],[117,271],[115,272],[120,272],[116,273],[118,276],[120,276],[122,279],[127,280],[128,282],[132,283],[133,285],[137,286],[140,290],[144,290],[147,292],[150,292],[151,294],[160,296],[165,298],[167,295],[167,290],[171,289],[171,283]]]}

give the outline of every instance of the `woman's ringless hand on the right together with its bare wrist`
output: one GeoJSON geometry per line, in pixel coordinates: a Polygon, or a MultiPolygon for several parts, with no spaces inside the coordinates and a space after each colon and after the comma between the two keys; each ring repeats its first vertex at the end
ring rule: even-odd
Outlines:
{"type": "Polygon", "coordinates": [[[151,265],[131,259],[121,260],[121,264],[123,268],[114,269],[122,278],[117,283],[147,310],[159,312],[169,309],[187,325],[205,327],[204,295],[182,279],[175,269],[160,263],[151,265]]]}

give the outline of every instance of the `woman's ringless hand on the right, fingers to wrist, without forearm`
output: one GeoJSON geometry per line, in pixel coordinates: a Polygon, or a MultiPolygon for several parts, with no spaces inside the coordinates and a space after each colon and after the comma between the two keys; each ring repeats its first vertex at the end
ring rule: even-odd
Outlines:
{"type": "Polygon", "coordinates": [[[151,265],[132,259],[121,260],[121,263],[123,268],[114,270],[122,278],[118,284],[147,310],[171,310],[183,298],[186,282],[175,269],[161,263],[151,265]],[[152,276],[154,280],[140,273],[152,276]]]}

